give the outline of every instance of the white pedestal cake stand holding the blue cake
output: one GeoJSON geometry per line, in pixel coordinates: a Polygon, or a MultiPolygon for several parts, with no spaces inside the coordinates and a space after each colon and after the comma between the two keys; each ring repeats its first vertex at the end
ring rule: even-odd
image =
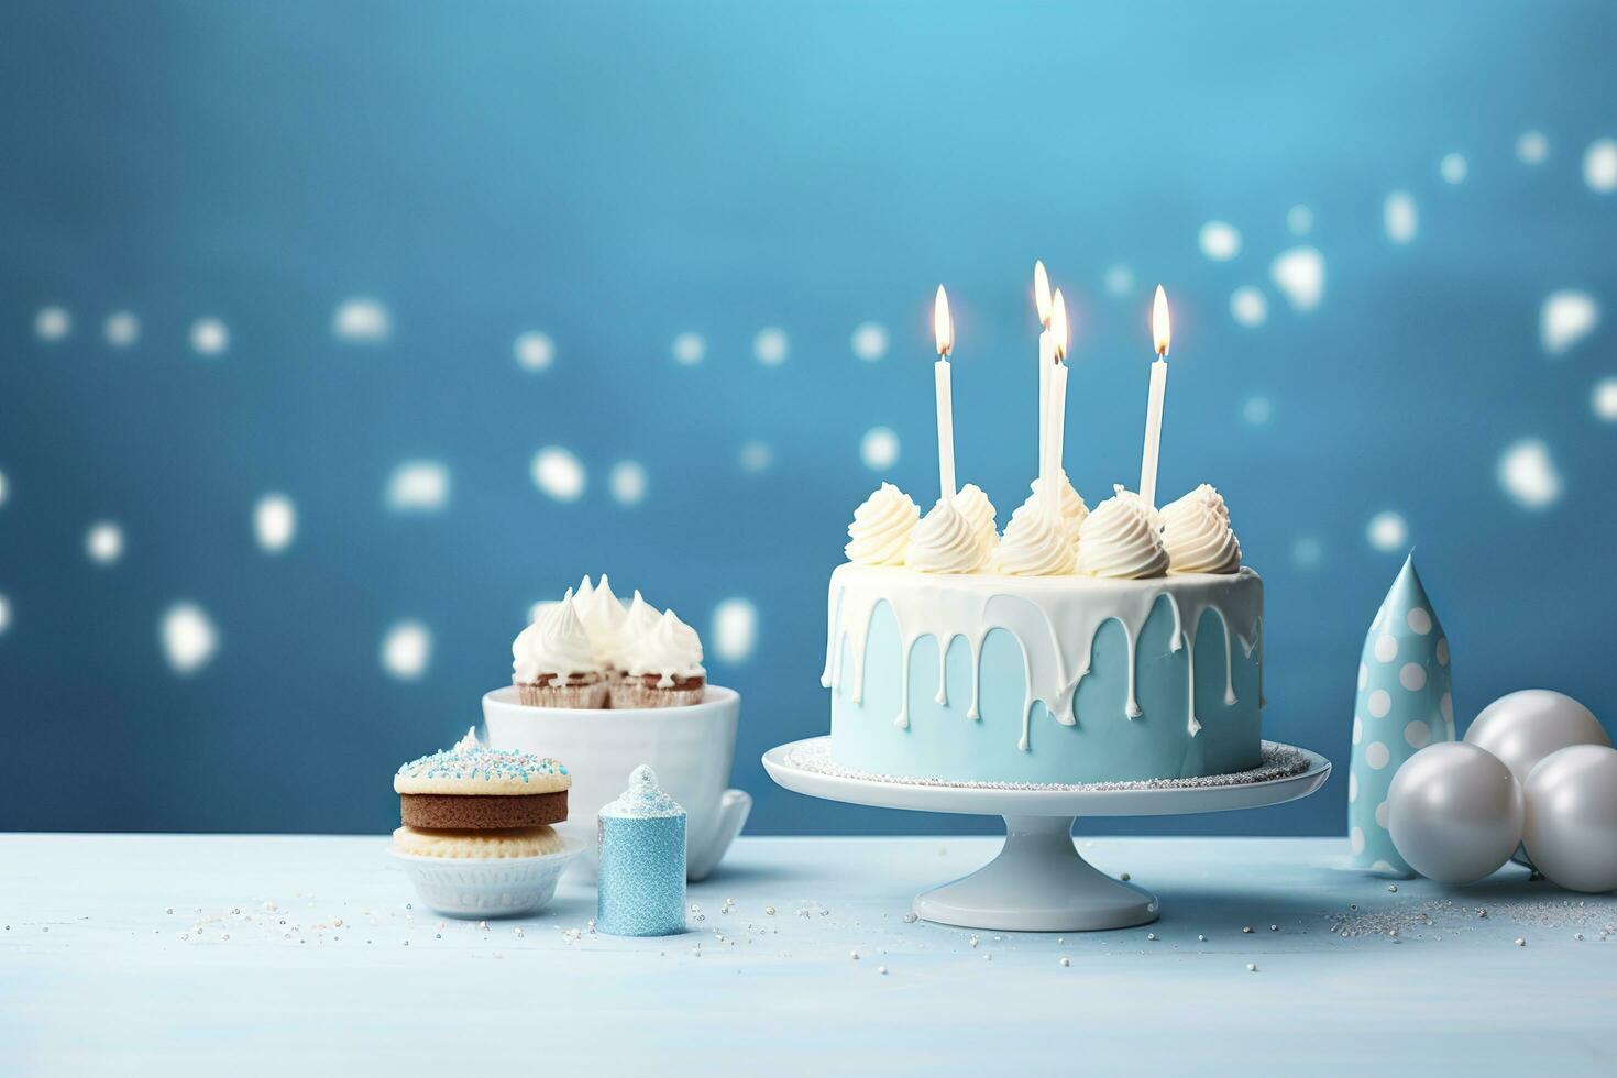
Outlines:
{"type": "Polygon", "coordinates": [[[1072,824],[1079,816],[1177,816],[1231,808],[1281,805],[1308,797],[1331,774],[1331,761],[1305,748],[1276,747],[1305,758],[1302,771],[1243,782],[1167,789],[1095,785],[951,785],[838,774],[805,766],[808,750],[823,755],[825,737],[791,742],[763,753],[763,768],[787,790],[851,805],[909,808],[923,813],[973,813],[1006,818],[999,855],[964,879],[915,897],[928,921],[1035,933],[1074,933],[1146,924],[1158,902],[1145,887],[1101,873],[1079,855],[1072,824]]]}

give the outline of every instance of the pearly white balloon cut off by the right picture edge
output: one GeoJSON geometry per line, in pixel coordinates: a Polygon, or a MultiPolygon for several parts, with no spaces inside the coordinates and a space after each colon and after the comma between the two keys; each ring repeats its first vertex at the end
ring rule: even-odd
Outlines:
{"type": "Polygon", "coordinates": [[[1617,748],[1572,745],[1533,768],[1523,842],[1562,887],[1617,889],[1617,748]]]}

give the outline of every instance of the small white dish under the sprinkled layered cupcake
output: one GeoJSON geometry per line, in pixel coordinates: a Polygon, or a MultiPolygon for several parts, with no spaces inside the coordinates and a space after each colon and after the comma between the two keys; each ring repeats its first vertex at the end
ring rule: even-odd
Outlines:
{"type": "Polygon", "coordinates": [[[443,916],[488,920],[537,913],[556,897],[556,882],[584,844],[540,857],[422,857],[388,853],[404,868],[424,903],[443,916]]]}

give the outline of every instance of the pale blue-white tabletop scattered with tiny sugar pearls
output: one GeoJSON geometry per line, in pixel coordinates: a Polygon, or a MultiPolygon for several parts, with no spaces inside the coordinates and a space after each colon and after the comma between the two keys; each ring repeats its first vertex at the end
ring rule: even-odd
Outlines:
{"type": "Polygon", "coordinates": [[[1392,892],[1319,839],[1080,842],[1161,921],[975,945],[906,923],[986,839],[741,839],[690,933],[618,939],[568,884],[440,923],[380,837],[0,836],[0,1073],[1617,1067],[1617,899],[1514,866],[1392,892]],[[1370,934],[1384,915],[1397,936],[1370,934]]]}

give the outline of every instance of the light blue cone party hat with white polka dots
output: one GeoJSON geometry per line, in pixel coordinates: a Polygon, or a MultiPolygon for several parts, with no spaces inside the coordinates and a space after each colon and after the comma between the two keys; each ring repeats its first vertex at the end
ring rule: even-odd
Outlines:
{"type": "Polygon", "coordinates": [[[1347,839],[1357,868],[1415,874],[1387,832],[1387,787],[1405,760],[1433,742],[1452,740],[1449,640],[1410,554],[1370,622],[1358,659],[1347,769],[1347,839]]]}

